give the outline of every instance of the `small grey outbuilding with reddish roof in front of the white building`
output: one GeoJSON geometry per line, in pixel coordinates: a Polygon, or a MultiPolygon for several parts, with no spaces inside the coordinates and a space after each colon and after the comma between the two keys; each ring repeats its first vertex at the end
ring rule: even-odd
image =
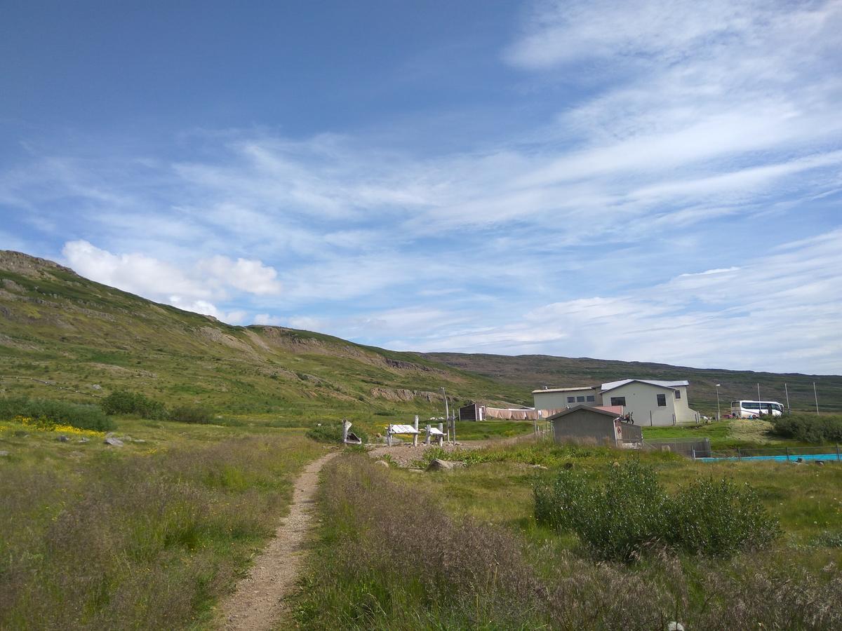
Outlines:
{"type": "Polygon", "coordinates": [[[640,427],[622,422],[614,411],[593,406],[574,406],[553,414],[552,433],[557,443],[595,443],[623,447],[641,439],[640,427]]]}

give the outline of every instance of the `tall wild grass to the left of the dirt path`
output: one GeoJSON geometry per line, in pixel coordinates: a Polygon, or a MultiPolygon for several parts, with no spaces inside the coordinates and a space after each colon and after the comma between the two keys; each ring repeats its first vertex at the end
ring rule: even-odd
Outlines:
{"type": "MultiPolygon", "coordinates": [[[[302,437],[252,437],[81,469],[4,464],[0,628],[184,628],[274,531],[302,437]]],[[[0,463],[3,464],[3,463],[0,463]]]]}

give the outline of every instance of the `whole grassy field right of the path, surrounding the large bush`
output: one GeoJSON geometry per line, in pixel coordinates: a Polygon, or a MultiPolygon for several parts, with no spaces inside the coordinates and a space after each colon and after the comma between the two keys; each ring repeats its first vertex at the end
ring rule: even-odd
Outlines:
{"type": "Polygon", "coordinates": [[[454,457],[465,457],[466,469],[423,477],[360,456],[334,461],[296,604],[302,628],[842,623],[842,467],[702,464],[546,443],[454,457]],[[536,523],[536,481],[567,467],[600,478],[628,458],[653,466],[674,494],[700,476],[749,484],[783,534],[769,549],[733,559],[655,547],[631,564],[594,563],[575,535],[536,523]]]}

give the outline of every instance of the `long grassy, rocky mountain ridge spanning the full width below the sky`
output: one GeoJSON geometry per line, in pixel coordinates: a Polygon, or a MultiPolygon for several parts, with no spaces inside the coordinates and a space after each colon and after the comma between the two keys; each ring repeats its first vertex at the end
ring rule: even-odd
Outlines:
{"type": "MultiPolygon", "coordinates": [[[[279,326],[230,326],[95,283],[56,262],[0,251],[0,395],[92,398],[126,388],[231,412],[440,415],[441,387],[451,404],[531,405],[530,391],[541,385],[625,377],[690,379],[694,406],[709,406],[711,384],[718,382],[726,406],[733,395],[750,395],[749,382],[757,380],[761,394],[782,400],[772,395],[775,384],[782,388],[775,374],[541,355],[399,353],[279,326]]],[[[809,408],[804,389],[815,380],[823,409],[842,409],[842,378],[790,378],[798,407],[809,408]]],[[[715,409],[715,397],[712,402],[715,409]]]]}

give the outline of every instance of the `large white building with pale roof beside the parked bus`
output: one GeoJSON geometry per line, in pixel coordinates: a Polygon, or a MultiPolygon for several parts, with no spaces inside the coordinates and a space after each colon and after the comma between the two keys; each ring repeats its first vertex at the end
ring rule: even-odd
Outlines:
{"type": "Polygon", "coordinates": [[[621,379],[594,386],[533,390],[532,396],[537,410],[558,411],[580,405],[622,406],[623,413],[631,413],[636,425],[674,425],[699,418],[687,401],[688,385],[686,380],[621,379]]]}

